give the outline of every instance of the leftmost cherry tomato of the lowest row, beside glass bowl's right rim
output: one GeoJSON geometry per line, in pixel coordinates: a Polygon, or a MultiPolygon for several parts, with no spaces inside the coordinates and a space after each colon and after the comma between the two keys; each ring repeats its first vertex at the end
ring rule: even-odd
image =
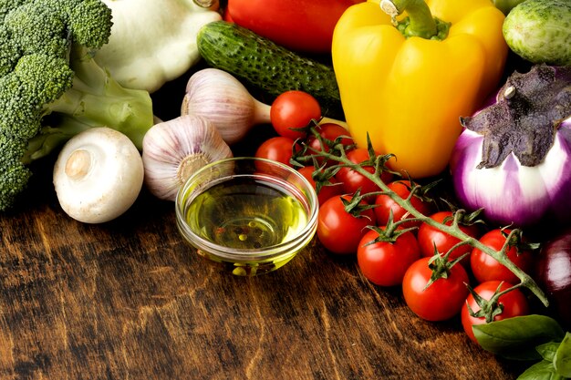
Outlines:
{"type": "MultiPolygon", "coordinates": [[[[366,210],[359,217],[345,210],[341,199],[351,200],[348,195],[337,195],[326,200],[317,215],[317,238],[328,251],[337,254],[356,253],[361,237],[375,224],[375,213],[366,210]]],[[[360,205],[367,203],[361,201],[360,205]]]]}

